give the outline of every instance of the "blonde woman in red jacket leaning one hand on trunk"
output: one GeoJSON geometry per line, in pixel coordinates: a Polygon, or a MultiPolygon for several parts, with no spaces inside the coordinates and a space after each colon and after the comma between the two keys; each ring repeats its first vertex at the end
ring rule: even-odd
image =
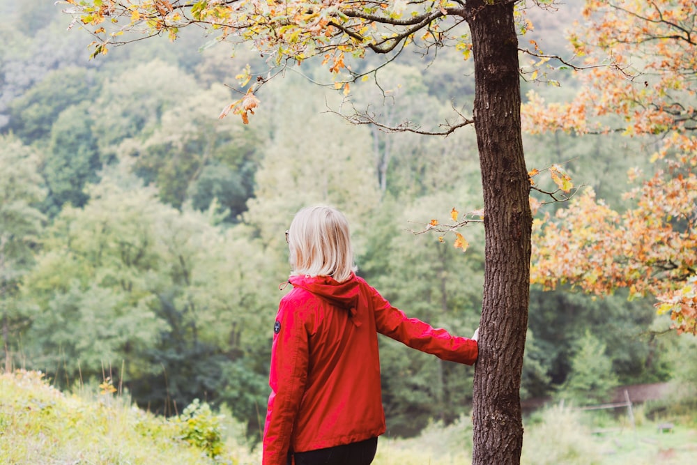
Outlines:
{"type": "Polygon", "coordinates": [[[472,365],[477,341],[408,319],[355,275],[348,222],[298,212],[286,231],[293,290],[274,323],[263,465],[368,465],[385,432],[377,333],[472,365]]]}

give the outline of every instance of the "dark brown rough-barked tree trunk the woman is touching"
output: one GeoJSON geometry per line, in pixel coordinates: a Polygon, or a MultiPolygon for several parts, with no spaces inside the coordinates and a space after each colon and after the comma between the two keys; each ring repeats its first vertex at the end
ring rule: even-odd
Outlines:
{"type": "Polygon", "coordinates": [[[473,465],[519,464],[520,383],[530,291],[530,181],[520,125],[514,1],[468,0],[486,259],[474,379],[473,465]],[[492,4],[493,3],[493,4],[492,4]]]}

